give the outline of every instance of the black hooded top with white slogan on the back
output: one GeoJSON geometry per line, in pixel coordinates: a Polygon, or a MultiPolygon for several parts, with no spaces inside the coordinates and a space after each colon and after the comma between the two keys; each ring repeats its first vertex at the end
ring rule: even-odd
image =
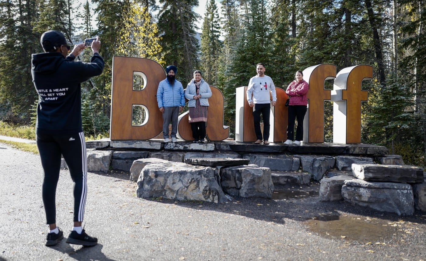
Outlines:
{"type": "Polygon", "coordinates": [[[40,95],[37,134],[66,135],[83,131],[81,82],[104,70],[104,60],[95,53],[91,62],[74,61],[61,53],[32,54],[32,81],[40,95]]]}

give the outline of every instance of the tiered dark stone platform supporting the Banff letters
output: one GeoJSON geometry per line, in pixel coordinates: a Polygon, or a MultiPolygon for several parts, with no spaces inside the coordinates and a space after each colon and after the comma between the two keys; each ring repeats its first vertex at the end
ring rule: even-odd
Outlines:
{"type": "MultiPolygon", "coordinates": [[[[335,143],[302,143],[301,145],[284,145],[271,143],[257,145],[252,142],[205,142],[194,143],[178,140],[176,143],[164,143],[162,139],[116,140],[101,139],[86,142],[88,149],[104,155],[112,151],[111,165],[106,164],[108,159],[102,160],[102,166],[93,170],[108,170],[110,167],[117,170],[130,171],[135,159],[157,158],[172,162],[190,162],[194,158],[222,158],[246,159],[244,164],[255,164],[259,167],[268,167],[271,171],[292,171],[292,177],[279,178],[273,175],[279,183],[294,185],[306,184],[307,174],[314,180],[320,180],[330,170],[351,170],[353,163],[369,164],[376,162],[402,162],[397,155],[387,156],[386,147],[367,144],[335,144],[335,143]],[[127,157],[127,158],[126,158],[127,157]],[[297,174],[303,170],[304,173],[297,174]],[[301,181],[301,182],[296,182],[301,181]]],[[[107,154],[109,155],[109,154],[107,154]]],[[[94,156],[92,156],[94,157],[94,156]]],[[[399,156],[400,157],[400,156],[399,156]]],[[[101,161],[99,159],[99,161],[101,161]]],[[[225,165],[225,164],[224,164],[225,165]]],[[[92,170],[89,167],[89,170],[92,170]]],[[[132,180],[137,174],[133,174],[132,180]]]]}

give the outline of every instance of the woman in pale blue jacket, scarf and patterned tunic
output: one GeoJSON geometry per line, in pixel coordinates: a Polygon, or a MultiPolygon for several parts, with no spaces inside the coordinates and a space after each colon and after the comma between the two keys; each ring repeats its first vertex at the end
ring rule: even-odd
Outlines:
{"type": "Polygon", "coordinates": [[[208,98],[212,96],[210,86],[201,78],[201,71],[194,71],[194,78],[188,83],[185,98],[189,107],[189,122],[191,123],[194,142],[204,142],[206,136],[208,98]]]}

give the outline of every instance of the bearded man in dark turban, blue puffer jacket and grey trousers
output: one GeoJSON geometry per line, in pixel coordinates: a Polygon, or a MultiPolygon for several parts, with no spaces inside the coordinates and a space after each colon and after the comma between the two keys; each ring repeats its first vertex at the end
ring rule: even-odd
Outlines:
{"type": "Polygon", "coordinates": [[[164,142],[170,142],[169,124],[172,121],[172,142],[176,142],[178,132],[178,115],[184,110],[185,94],[184,88],[175,75],[178,68],[174,65],[166,67],[167,77],[158,84],[157,102],[158,108],[163,113],[163,137],[164,142]]]}

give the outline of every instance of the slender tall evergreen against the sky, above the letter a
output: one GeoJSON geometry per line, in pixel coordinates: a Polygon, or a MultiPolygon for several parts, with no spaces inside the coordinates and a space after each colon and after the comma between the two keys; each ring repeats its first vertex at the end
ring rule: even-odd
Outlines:
{"type": "Polygon", "coordinates": [[[222,42],[219,40],[219,13],[214,0],[210,0],[206,4],[202,29],[201,65],[204,71],[203,78],[209,84],[216,85],[222,42]]]}

